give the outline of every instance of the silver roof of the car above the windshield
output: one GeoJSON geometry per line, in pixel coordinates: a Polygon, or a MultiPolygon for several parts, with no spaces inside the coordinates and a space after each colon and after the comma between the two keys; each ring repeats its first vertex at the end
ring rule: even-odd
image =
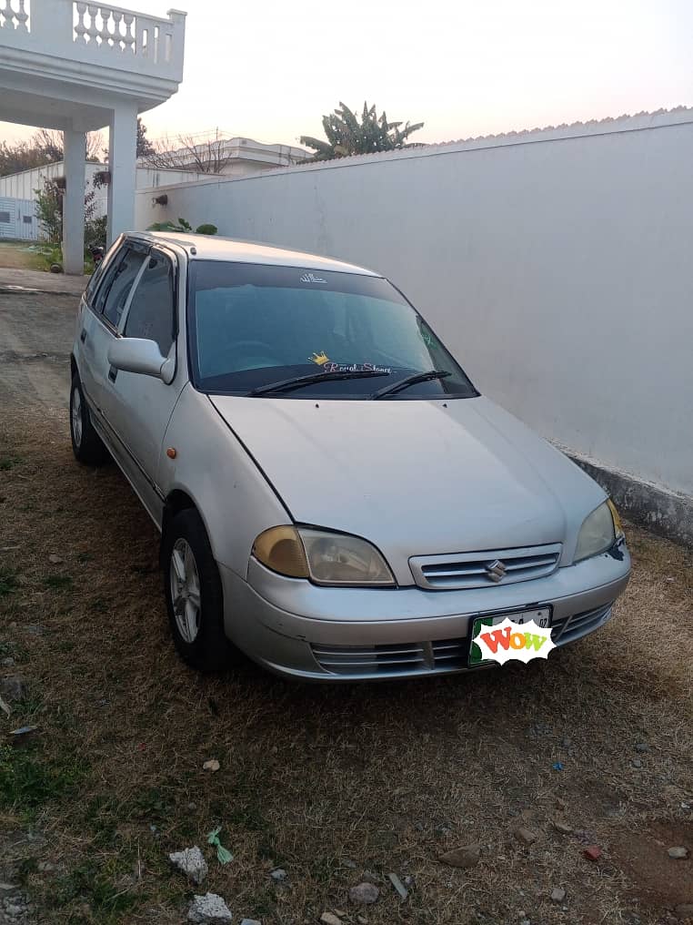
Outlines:
{"type": "Polygon", "coordinates": [[[289,251],[271,244],[259,244],[248,240],[220,238],[217,235],[186,234],[173,231],[133,232],[131,238],[145,238],[153,241],[168,241],[183,247],[190,260],[220,260],[238,264],[264,264],[272,266],[297,266],[308,270],[333,270],[336,273],[359,273],[362,276],[379,277],[363,266],[346,264],[317,253],[289,251]]]}

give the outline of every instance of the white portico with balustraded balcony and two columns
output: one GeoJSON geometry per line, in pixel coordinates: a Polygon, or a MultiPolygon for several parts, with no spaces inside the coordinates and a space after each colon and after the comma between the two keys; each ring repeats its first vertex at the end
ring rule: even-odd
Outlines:
{"type": "Polygon", "coordinates": [[[63,257],[82,272],[88,131],[109,127],[108,237],[132,228],[137,117],[183,77],[185,13],[167,19],[78,0],[0,6],[0,120],[63,131],[63,257]]]}

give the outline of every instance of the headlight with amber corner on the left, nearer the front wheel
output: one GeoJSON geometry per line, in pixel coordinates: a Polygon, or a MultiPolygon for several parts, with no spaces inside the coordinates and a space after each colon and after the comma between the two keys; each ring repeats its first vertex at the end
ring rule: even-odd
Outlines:
{"type": "Polygon", "coordinates": [[[395,578],[375,547],[359,536],[275,526],[255,540],[253,555],[267,568],[316,585],[392,587],[395,578]]]}

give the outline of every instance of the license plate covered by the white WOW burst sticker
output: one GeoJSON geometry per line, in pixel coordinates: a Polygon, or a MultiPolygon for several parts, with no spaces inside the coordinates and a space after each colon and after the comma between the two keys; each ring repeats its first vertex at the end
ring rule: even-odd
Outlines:
{"type": "Polygon", "coordinates": [[[469,668],[493,661],[546,659],[555,648],[551,638],[551,608],[494,613],[471,624],[469,668]]]}

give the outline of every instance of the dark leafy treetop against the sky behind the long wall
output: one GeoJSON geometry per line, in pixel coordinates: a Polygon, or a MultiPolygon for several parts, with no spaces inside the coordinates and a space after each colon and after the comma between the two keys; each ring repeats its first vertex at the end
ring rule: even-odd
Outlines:
{"type": "Polygon", "coordinates": [[[334,113],[322,117],[326,142],[308,135],[302,135],[300,142],[315,151],[315,161],[413,147],[414,145],[407,143],[407,138],[419,131],[423,122],[417,122],[415,125],[407,122],[403,128],[402,126],[402,122],[388,122],[384,111],[382,116],[378,116],[375,106],[369,108],[368,103],[363,104],[359,121],[359,117],[347,105],[340,103],[334,113]]]}

